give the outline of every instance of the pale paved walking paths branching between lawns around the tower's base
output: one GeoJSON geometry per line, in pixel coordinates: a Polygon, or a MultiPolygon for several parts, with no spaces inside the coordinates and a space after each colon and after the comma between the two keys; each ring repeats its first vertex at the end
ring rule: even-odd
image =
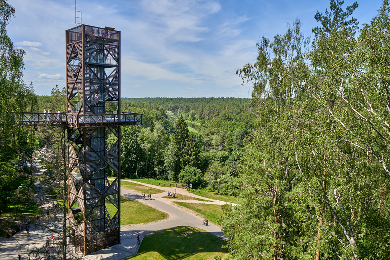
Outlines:
{"type": "MultiPolygon", "coordinates": [[[[212,202],[206,201],[197,201],[197,200],[174,200],[168,198],[162,198],[167,195],[167,191],[175,191],[177,194],[187,195],[191,197],[197,197],[205,199],[204,197],[198,196],[196,194],[190,193],[187,190],[173,187],[161,187],[150,184],[144,184],[131,180],[121,180],[121,181],[129,181],[135,182],[137,184],[141,184],[144,186],[153,187],[156,189],[164,190],[164,192],[156,195],[152,195],[152,200],[143,200],[140,193],[127,190],[121,187],[122,196],[137,200],[141,203],[150,205],[155,207],[161,211],[168,213],[169,218],[163,221],[159,221],[151,224],[137,225],[137,226],[121,226],[121,244],[112,246],[110,248],[106,248],[104,250],[100,250],[88,256],[85,256],[85,260],[97,260],[97,259],[108,259],[108,260],[121,260],[132,255],[137,254],[139,245],[137,245],[137,236],[140,235],[141,242],[146,236],[146,234],[150,232],[155,232],[158,230],[172,228],[176,226],[190,226],[195,228],[202,228],[206,230],[206,226],[202,225],[203,219],[192,214],[191,211],[184,211],[180,207],[178,207],[173,201],[180,202],[189,202],[189,203],[205,203],[205,204],[217,204],[222,205],[226,202],[219,200],[210,200],[212,202]]],[[[60,213],[59,213],[60,214],[60,213]]],[[[218,237],[226,239],[226,237],[221,232],[221,228],[210,223],[207,227],[207,231],[215,234],[218,237]]],[[[15,234],[13,237],[5,239],[0,238],[0,258],[1,260],[11,260],[16,259],[18,254],[22,256],[22,259],[27,259],[28,252],[37,247],[44,246],[45,238],[50,236],[51,234],[47,232],[43,232],[39,229],[35,229],[32,225],[30,229],[30,236],[26,236],[26,231],[21,231],[15,234]]],[[[55,246],[55,245],[54,245],[55,246]]],[[[53,246],[53,248],[54,248],[53,246]]]]}

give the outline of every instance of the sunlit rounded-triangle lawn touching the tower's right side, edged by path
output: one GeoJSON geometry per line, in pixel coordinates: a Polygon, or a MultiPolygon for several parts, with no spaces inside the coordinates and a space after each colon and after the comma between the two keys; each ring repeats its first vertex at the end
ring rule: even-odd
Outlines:
{"type": "MultiPolygon", "coordinates": [[[[110,215],[114,216],[117,211],[116,207],[108,201],[106,201],[106,207],[110,215]]],[[[168,217],[165,212],[156,210],[155,208],[144,205],[138,201],[128,200],[123,196],[120,199],[120,207],[121,225],[151,223],[168,217]]]]}

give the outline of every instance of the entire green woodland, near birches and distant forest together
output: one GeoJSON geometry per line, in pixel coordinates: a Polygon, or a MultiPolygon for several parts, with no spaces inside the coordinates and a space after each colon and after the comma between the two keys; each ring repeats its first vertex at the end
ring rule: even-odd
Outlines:
{"type": "MultiPolygon", "coordinates": [[[[229,259],[389,259],[390,4],[361,28],[358,4],[343,4],[314,14],[312,40],[296,20],[258,42],[255,63],[237,70],[251,99],[123,98],[143,125],[122,128],[122,177],[237,196],[223,206],[229,259]]],[[[53,134],[16,127],[11,111],[63,111],[66,100],[21,80],[12,9],[1,8],[0,213],[26,199],[33,150],[53,147],[53,134]]]]}

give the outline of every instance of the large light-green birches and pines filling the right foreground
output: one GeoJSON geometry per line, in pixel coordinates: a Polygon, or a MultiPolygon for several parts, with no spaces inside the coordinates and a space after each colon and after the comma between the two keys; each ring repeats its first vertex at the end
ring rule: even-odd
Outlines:
{"type": "Polygon", "coordinates": [[[253,83],[256,121],[238,160],[239,207],[224,207],[232,259],[389,254],[388,237],[374,237],[389,227],[390,8],[357,32],[357,3],[342,5],[317,12],[310,52],[296,22],[237,71],[253,83]]]}

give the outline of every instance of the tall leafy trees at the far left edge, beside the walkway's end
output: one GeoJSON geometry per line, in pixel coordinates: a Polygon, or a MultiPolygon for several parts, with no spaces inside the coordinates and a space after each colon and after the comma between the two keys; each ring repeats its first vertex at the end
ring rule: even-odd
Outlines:
{"type": "Polygon", "coordinates": [[[0,0],[0,214],[29,199],[25,161],[31,161],[32,149],[27,149],[27,134],[16,126],[14,116],[36,105],[32,84],[26,86],[22,80],[25,52],[16,49],[7,35],[6,25],[14,13],[0,0]]]}

